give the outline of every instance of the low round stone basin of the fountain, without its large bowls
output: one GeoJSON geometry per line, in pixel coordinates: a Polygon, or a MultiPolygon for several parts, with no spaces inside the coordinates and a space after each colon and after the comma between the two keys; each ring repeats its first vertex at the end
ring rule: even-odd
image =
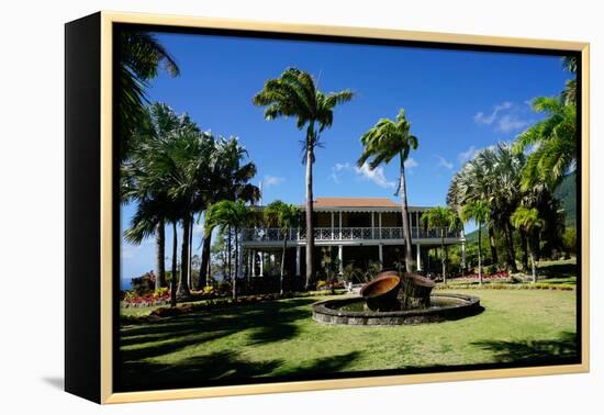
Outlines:
{"type": "Polygon", "coordinates": [[[351,326],[394,326],[459,319],[480,313],[480,299],[439,293],[430,295],[430,306],[402,311],[371,311],[359,296],[313,304],[313,319],[323,324],[351,326]]]}

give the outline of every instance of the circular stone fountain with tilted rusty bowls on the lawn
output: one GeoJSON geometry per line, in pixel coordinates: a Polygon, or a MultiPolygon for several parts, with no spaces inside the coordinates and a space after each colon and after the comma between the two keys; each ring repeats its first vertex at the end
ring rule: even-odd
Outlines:
{"type": "Polygon", "coordinates": [[[480,299],[461,294],[430,294],[425,277],[385,271],[365,284],[361,296],[313,304],[313,318],[325,324],[383,326],[458,319],[478,314],[480,299]]]}

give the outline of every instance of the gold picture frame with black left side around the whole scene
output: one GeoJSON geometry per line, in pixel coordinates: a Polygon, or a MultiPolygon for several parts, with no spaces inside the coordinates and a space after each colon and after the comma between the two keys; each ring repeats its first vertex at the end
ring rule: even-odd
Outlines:
{"type": "MultiPolygon", "coordinates": [[[[80,38],[81,42],[81,38],[80,38]]],[[[83,253],[85,247],[78,246],[76,242],[70,245],[67,251],[67,262],[70,262],[74,255],[97,256],[98,257],[98,279],[94,280],[92,289],[97,287],[97,291],[91,295],[98,295],[98,302],[94,304],[82,304],[75,299],[75,295],[81,295],[81,287],[76,287],[75,279],[77,272],[70,271],[70,266],[66,270],[66,389],[69,392],[85,396],[92,401],[109,404],[109,403],[126,403],[142,401],[158,401],[158,400],[176,400],[191,397],[210,397],[210,396],[228,396],[242,394],[260,394],[260,393],[278,393],[278,392],[294,392],[294,391],[312,391],[312,390],[331,390],[342,388],[361,388],[361,386],[382,386],[407,383],[426,383],[426,382],[444,382],[444,381],[462,381],[493,378],[512,378],[512,377],[529,377],[544,374],[563,374],[588,372],[590,368],[589,344],[590,344],[590,327],[589,327],[589,267],[590,267],[590,148],[589,148],[589,125],[590,125],[590,45],[589,43],[550,41],[550,40],[532,40],[532,38],[515,38],[515,37],[497,37],[497,36],[479,36],[451,33],[432,33],[432,32],[413,32],[403,30],[388,29],[370,29],[370,27],[348,27],[348,26],[324,26],[324,25],[307,25],[307,24],[283,24],[277,22],[255,22],[239,21],[230,19],[205,19],[192,16],[177,15],[159,15],[159,14],[138,14],[138,13],[122,13],[103,11],[90,18],[85,18],[81,21],[67,24],[66,36],[66,82],[67,82],[67,101],[70,98],[75,100],[70,93],[79,93],[77,91],[78,83],[74,80],[79,76],[76,69],[70,69],[70,65],[80,65],[81,59],[78,54],[87,53],[98,54],[98,97],[99,113],[92,113],[87,116],[98,121],[96,126],[87,126],[87,128],[98,128],[98,142],[92,141],[92,146],[98,146],[97,149],[91,149],[92,154],[99,156],[98,182],[93,186],[93,191],[98,191],[99,210],[96,213],[88,213],[96,216],[87,216],[87,213],[77,213],[77,208],[69,208],[74,202],[69,195],[69,186],[67,191],[68,213],[71,212],[75,216],[72,221],[94,221],[98,228],[98,245],[83,253]],[[88,19],[88,21],[86,20],[88,19]],[[113,236],[113,210],[115,209],[115,192],[113,183],[114,173],[114,154],[112,146],[113,135],[113,25],[114,24],[142,24],[153,26],[174,26],[174,27],[204,27],[216,30],[236,30],[251,31],[262,33],[287,33],[291,35],[323,35],[338,37],[355,37],[355,38],[376,38],[391,41],[412,41],[426,42],[451,45],[469,45],[469,46],[496,46],[511,48],[536,48],[536,49],[556,49],[556,51],[573,51],[581,55],[581,284],[580,284],[580,316],[581,316],[581,362],[578,364],[566,366],[545,366],[545,367],[527,367],[527,368],[503,368],[493,370],[469,370],[454,372],[435,372],[435,373],[418,373],[418,374],[401,374],[401,375],[383,375],[383,377],[365,377],[350,379],[333,379],[333,380],[312,380],[312,381],[292,381],[280,383],[255,383],[227,386],[209,386],[209,388],[191,388],[176,390],[157,390],[143,392],[114,392],[112,386],[112,359],[114,354],[114,278],[113,269],[115,263],[115,253],[119,248],[115,246],[113,236]],[[70,29],[71,27],[71,29],[70,29]],[[75,29],[74,29],[75,27],[75,29]],[[71,31],[71,32],[70,32],[71,31]],[[75,37],[81,37],[83,34],[93,34],[98,40],[98,49],[92,49],[86,45],[79,45],[75,37]],[[71,42],[71,43],[70,43],[71,42]],[[74,43],[75,42],[75,43],[74,43]],[[76,74],[76,75],[75,75],[76,74]],[[70,86],[71,85],[71,86],[70,86]],[[70,92],[71,91],[71,92],[70,92]],[[98,153],[94,153],[98,152],[98,153]],[[74,213],[76,212],[76,213],[74,213]],[[70,272],[74,272],[72,274],[70,272]],[[97,284],[98,283],[98,284],[97,284]],[[93,313],[89,307],[97,307],[98,313],[93,313]],[[80,317],[77,317],[79,314],[80,317]],[[98,317],[98,321],[97,321],[98,317]],[[80,319],[78,319],[80,318],[80,319]],[[88,357],[79,357],[78,351],[81,348],[90,347],[85,345],[81,336],[86,336],[81,327],[85,325],[83,318],[90,318],[87,329],[97,333],[99,339],[98,348],[90,351],[88,357]],[[98,354],[98,356],[96,355],[98,354]],[[97,359],[94,358],[97,357],[97,359]],[[92,370],[90,368],[93,368],[92,370]],[[92,373],[98,377],[98,383],[92,382],[92,386],[79,386],[85,378],[83,372],[92,373]]],[[[90,64],[90,65],[93,65],[90,64]]],[[[80,74],[81,75],[81,74],[80,74]]],[[[86,82],[82,80],[81,82],[86,82]]],[[[89,81],[89,80],[88,80],[89,81]]],[[[90,93],[97,93],[90,92],[90,93]]],[[[77,108],[67,102],[66,104],[66,124],[67,124],[67,164],[69,165],[71,153],[69,150],[69,135],[78,132],[77,128],[83,126],[70,127],[74,119],[82,115],[82,111],[89,111],[90,108],[77,108]]],[[[97,130],[88,130],[97,131],[97,130]]],[[[81,132],[81,131],[80,131],[81,132]]],[[[74,150],[77,153],[77,150],[74,150]]],[[[74,156],[75,157],[75,156],[74,156]]],[[[81,166],[80,166],[81,167],[81,166]]],[[[75,167],[74,167],[75,168],[75,167]]],[[[74,171],[67,168],[67,181],[69,182],[70,175],[74,171]]],[[[80,184],[83,186],[83,184],[80,184]]],[[[74,193],[78,193],[77,186],[74,184],[74,193]]],[[[76,226],[76,222],[67,223],[67,238],[69,239],[70,226],[76,226]]],[[[69,240],[67,242],[69,245],[69,240]]],[[[81,273],[80,273],[81,274],[81,273]]],[[[78,282],[79,283],[79,282],[78,282]]],[[[579,327],[578,327],[579,328],[579,327]]],[[[96,336],[96,335],[94,335],[96,336]]]]}

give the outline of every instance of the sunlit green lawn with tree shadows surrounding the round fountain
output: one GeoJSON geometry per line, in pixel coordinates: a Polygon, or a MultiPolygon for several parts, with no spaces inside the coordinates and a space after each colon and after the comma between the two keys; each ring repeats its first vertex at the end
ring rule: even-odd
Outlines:
{"type": "Polygon", "coordinates": [[[321,296],[125,326],[120,333],[123,386],[574,356],[574,291],[456,292],[480,296],[484,311],[417,326],[326,326],[311,318],[311,304],[327,299],[321,296]]]}

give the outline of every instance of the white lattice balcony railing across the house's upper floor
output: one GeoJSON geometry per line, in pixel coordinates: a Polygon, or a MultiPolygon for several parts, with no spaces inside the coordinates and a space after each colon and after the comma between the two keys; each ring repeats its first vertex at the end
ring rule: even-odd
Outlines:
{"type": "MultiPolygon", "coordinates": [[[[459,231],[449,231],[448,228],[428,228],[412,227],[411,238],[440,238],[440,232],[444,232],[446,238],[459,238],[461,233],[459,231]]],[[[275,227],[259,227],[259,228],[246,228],[243,229],[244,242],[282,242],[283,237],[292,242],[304,242],[306,239],[305,229],[289,229],[283,236],[281,229],[275,227]]],[[[393,240],[403,239],[402,227],[315,227],[314,240],[315,242],[338,242],[338,240],[393,240]]]]}

